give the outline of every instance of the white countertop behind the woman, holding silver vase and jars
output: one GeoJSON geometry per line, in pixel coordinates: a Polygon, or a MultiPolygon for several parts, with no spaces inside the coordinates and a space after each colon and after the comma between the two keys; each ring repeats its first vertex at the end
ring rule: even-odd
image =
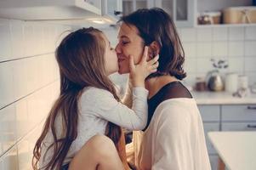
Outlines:
{"type": "Polygon", "coordinates": [[[245,97],[233,97],[227,92],[196,92],[191,91],[197,105],[256,105],[256,94],[245,97]]]}

